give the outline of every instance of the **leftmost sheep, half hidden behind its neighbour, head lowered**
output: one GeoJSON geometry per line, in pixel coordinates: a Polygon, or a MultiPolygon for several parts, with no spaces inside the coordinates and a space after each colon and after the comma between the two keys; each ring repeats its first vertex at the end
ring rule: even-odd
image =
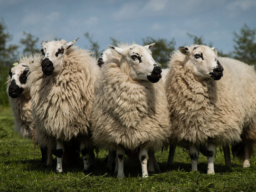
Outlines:
{"type": "MultiPolygon", "coordinates": [[[[42,59],[39,54],[29,54],[20,57],[19,62],[15,63],[9,71],[7,79],[7,94],[14,115],[14,130],[19,132],[22,137],[32,139],[35,134],[32,103],[30,90],[27,85],[27,76],[29,66],[33,63],[40,62],[42,59]]],[[[46,161],[47,149],[41,147],[42,162],[46,161]]]]}

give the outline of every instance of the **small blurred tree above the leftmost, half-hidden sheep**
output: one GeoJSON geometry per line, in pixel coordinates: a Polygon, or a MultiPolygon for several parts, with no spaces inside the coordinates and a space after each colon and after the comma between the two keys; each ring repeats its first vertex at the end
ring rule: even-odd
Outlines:
{"type": "Polygon", "coordinates": [[[21,45],[25,46],[23,50],[23,54],[28,54],[30,52],[40,53],[40,50],[38,49],[38,46],[37,46],[39,38],[31,35],[31,33],[26,33],[25,31],[23,31],[23,35],[26,37],[21,38],[21,40],[19,41],[21,45]]]}

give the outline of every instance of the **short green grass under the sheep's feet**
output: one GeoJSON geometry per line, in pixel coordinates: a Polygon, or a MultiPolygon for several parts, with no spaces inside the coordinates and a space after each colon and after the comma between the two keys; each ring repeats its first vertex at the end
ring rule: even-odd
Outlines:
{"type": "MultiPolygon", "coordinates": [[[[63,167],[63,174],[55,173],[55,166],[45,167],[40,161],[40,149],[32,140],[21,138],[13,131],[12,111],[0,108],[0,192],[252,192],[256,191],[256,155],[251,167],[232,159],[232,168],[225,167],[223,152],[217,149],[215,175],[207,175],[207,159],[200,155],[199,171],[190,171],[187,150],[178,147],[174,167],[168,168],[168,152],[157,152],[161,172],[140,178],[141,168],[137,161],[125,159],[124,179],[107,172],[104,159],[106,150],[100,150],[92,173],[83,173],[83,161],[71,167],[63,167]]],[[[54,165],[56,163],[56,159],[54,165]]]]}

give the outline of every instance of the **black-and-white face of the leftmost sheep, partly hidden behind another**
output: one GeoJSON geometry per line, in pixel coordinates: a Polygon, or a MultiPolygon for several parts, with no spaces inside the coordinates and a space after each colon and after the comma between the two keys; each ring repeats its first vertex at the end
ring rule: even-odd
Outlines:
{"type": "Polygon", "coordinates": [[[17,64],[9,71],[8,95],[17,98],[26,89],[28,66],[24,63],[17,64]]]}

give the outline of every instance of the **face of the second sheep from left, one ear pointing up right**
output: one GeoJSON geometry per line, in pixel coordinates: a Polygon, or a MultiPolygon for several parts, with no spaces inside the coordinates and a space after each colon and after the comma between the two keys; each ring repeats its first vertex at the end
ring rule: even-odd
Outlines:
{"type": "Polygon", "coordinates": [[[58,74],[62,70],[62,62],[66,55],[66,51],[71,47],[76,40],[66,43],[65,40],[41,42],[43,61],[41,63],[42,71],[45,75],[51,75],[53,72],[58,74]]]}

